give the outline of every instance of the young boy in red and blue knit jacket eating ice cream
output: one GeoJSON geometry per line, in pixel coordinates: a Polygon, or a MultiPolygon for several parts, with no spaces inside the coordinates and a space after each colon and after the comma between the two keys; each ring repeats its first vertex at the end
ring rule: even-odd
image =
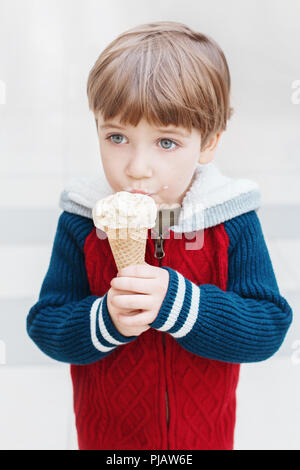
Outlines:
{"type": "Polygon", "coordinates": [[[28,334],[71,364],[79,449],[233,449],[240,363],[271,357],[292,311],[256,183],[213,162],[232,112],[224,54],[181,23],[141,25],[102,52],[87,91],[108,184],[63,191],[28,334]],[[153,197],[159,223],[146,264],[117,272],[92,208],[122,190],[153,197]]]}

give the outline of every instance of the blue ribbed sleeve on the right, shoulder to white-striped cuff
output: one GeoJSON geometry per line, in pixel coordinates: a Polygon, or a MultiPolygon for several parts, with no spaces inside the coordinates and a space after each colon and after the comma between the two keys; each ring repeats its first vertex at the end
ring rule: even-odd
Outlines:
{"type": "Polygon", "coordinates": [[[224,223],[229,236],[228,282],[224,292],[197,286],[169,271],[169,286],[150,325],[171,334],[186,350],[209,359],[262,361],[282,344],[292,310],[280,295],[255,211],[224,223]]]}

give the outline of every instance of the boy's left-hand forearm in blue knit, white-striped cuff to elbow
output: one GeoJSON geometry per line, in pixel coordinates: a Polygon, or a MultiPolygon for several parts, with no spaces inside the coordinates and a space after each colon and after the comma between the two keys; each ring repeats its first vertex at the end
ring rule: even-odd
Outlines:
{"type": "Polygon", "coordinates": [[[27,317],[27,332],[51,358],[89,364],[108,356],[133,338],[121,335],[107,310],[107,294],[59,305],[59,298],[42,297],[27,317]]]}

